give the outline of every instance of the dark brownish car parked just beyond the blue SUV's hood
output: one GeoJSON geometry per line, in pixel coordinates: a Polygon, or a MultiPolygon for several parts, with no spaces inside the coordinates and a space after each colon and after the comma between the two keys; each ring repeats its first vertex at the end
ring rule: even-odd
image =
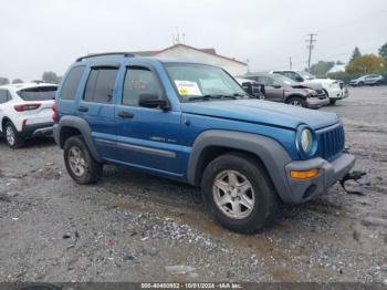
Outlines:
{"type": "Polygon", "coordinates": [[[266,101],[310,108],[330,104],[330,99],[323,90],[312,90],[281,74],[251,73],[243,75],[243,77],[263,84],[266,101]]]}

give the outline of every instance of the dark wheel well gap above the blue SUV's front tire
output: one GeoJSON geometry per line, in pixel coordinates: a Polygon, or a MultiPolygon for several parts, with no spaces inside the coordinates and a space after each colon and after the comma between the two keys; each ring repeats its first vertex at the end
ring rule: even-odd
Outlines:
{"type": "Polygon", "coordinates": [[[206,147],[203,149],[203,152],[200,155],[200,159],[198,160],[198,164],[196,167],[196,174],[195,174],[195,185],[200,186],[200,180],[202,178],[202,174],[203,174],[207,165],[209,165],[209,163],[211,160],[213,160],[215,158],[219,157],[220,155],[227,154],[227,153],[242,153],[244,155],[248,155],[249,157],[251,157],[252,160],[254,160],[254,163],[260,165],[265,170],[270,180],[273,182],[271,179],[271,176],[270,176],[264,163],[262,162],[262,159],[258,155],[255,155],[251,152],[224,147],[224,146],[209,146],[209,147],[206,147]]]}

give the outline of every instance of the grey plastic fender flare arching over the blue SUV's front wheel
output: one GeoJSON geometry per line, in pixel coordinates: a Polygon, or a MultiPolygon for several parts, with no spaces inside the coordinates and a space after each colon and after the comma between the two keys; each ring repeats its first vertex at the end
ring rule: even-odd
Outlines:
{"type": "Polygon", "coordinates": [[[200,185],[200,163],[202,153],[211,146],[228,147],[254,154],[265,166],[274,187],[283,200],[289,200],[285,165],[292,162],[286,151],[272,138],[250,133],[210,130],[201,133],[192,145],[188,162],[187,179],[191,185],[200,185]]]}

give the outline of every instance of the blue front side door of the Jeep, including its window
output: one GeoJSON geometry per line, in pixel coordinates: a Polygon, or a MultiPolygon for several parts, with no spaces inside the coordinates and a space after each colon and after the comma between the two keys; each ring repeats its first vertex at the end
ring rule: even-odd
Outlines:
{"type": "Polygon", "coordinates": [[[153,68],[127,66],[115,111],[117,160],[156,173],[181,176],[181,113],[142,107],[138,104],[142,94],[166,99],[153,68]]]}

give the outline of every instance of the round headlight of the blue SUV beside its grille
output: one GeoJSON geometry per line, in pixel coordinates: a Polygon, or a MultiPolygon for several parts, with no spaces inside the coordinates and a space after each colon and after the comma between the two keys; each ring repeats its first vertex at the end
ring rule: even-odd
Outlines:
{"type": "Polygon", "coordinates": [[[306,125],[301,125],[296,133],[296,146],[303,159],[314,156],[318,147],[314,131],[306,125]]]}

